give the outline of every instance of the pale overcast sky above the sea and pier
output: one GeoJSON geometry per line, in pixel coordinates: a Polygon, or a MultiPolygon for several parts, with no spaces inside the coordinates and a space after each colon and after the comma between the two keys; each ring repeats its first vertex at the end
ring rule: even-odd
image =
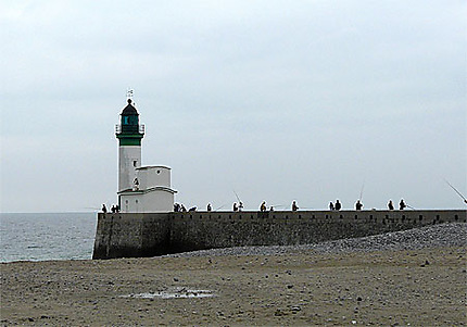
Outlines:
{"type": "Polygon", "coordinates": [[[0,1],[1,211],[116,203],[126,90],[176,201],[465,207],[466,1],[0,1]]]}

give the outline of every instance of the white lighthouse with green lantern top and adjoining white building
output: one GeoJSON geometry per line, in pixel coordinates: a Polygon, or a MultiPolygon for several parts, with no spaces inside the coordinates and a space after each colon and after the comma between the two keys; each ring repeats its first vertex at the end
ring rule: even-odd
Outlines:
{"type": "Polygon", "coordinates": [[[122,212],[168,212],[177,191],[171,187],[171,168],[142,166],[141,140],[144,125],[131,99],[121,113],[115,135],[118,139],[118,205],[122,212]]]}

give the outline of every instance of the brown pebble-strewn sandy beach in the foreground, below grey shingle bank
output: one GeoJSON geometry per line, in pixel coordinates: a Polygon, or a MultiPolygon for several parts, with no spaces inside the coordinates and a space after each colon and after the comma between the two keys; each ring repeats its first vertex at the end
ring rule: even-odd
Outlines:
{"type": "Polygon", "coordinates": [[[466,249],[8,263],[1,323],[463,326],[466,249]]]}

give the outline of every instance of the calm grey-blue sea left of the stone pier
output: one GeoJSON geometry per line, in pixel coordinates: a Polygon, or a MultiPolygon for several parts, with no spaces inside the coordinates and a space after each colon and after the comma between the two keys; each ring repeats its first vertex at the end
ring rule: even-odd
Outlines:
{"type": "Polygon", "coordinates": [[[0,213],[0,262],[92,257],[96,213],[0,213]]]}

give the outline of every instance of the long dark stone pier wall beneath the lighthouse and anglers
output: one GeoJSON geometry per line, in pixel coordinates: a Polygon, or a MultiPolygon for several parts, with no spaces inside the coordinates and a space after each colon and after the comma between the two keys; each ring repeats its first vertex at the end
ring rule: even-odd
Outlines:
{"type": "Polygon", "coordinates": [[[466,222],[465,210],[100,213],[93,259],[293,246],[466,222]]]}

